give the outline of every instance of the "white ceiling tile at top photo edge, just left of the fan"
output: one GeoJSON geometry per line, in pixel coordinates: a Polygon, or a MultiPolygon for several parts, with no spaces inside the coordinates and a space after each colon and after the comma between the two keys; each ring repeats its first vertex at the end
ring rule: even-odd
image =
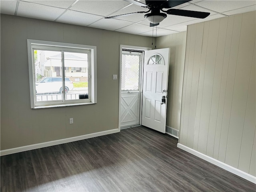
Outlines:
{"type": "Polygon", "coordinates": [[[129,3],[121,0],[80,0],[70,10],[108,16],[129,3]]]}

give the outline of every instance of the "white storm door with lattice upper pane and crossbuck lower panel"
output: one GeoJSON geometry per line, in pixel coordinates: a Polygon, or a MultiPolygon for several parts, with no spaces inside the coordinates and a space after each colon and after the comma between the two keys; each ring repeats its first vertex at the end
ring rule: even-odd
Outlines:
{"type": "Polygon", "coordinates": [[[120,127],[140,124],[142,52],[122,51],[120,127]]]}

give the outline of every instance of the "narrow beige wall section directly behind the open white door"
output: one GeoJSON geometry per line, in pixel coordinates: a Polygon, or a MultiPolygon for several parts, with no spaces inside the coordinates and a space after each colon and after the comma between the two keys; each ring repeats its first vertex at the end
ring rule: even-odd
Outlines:
{"type": "Polygon", "coordinates": [[[166,125],[180,130],[182,82],[186,50],[186,31],[156,38],[157,48],[170,48],[166,125]]]}

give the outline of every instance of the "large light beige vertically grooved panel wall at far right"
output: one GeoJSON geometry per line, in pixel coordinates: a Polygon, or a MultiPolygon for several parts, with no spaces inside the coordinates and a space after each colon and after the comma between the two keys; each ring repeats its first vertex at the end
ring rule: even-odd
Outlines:
{"type": "Polygon", "coordinates": [[[188,26],[179,143],[256,176],[256,12],[188,26]]]}

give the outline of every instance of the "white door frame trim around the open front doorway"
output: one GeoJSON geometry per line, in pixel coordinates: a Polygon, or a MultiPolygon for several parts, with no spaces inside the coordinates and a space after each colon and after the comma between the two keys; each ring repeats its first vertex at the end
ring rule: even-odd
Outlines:
{"type": "MultiPolygon", "coordinates": [[[[122,50],[131,50],[131,51],[145,51],[145,50],[152,50],[150,47],[140,47],[140,46],[130,46],[130,45],[120,45],[120,50],[119,50],[119,55],[120,55],[120,60],[119,60],[119,112],[118,112],[118,130],[121,130],[121,121],[120,121],[120,114],[121,114],[121,80],[122,80],[122,50]]],[[[144,52],[142,54],[143,61],[142,61],[142,72],[141,72],[141,85],[143,86],[143,67],[144,67],[144,52]]],[[[142,90],[143,87],[141,87],[142,90]]],[[[143,90],[142,90],[143,91],[143,90]]],[[[142,96],[140,95],[140,112],[142,110],[142,96]]],[[[141,124],[141,115],[140,115],[140,124],[141,124]]]]}

